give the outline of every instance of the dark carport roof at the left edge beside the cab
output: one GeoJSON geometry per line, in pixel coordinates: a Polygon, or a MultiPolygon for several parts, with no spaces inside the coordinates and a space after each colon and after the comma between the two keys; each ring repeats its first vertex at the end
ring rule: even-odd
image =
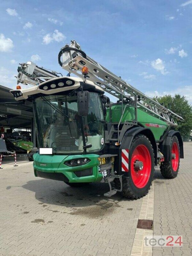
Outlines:
{"type": "Polygon", "coordinates": [[[0,126],[12,128],[31,128],[33,117],[32,103],[16,101],[9,92],[11,88],[0,85],[0,126]],[[6,115],[6,117],[1,117],[6,115]]]}

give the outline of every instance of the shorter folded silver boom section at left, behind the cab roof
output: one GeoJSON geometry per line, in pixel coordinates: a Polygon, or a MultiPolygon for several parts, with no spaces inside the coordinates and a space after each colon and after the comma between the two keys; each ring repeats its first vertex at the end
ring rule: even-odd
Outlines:
{"type": "Polygon", "coordinates": [[[49,79],[59,77],[59,73],[55,71],[49,71],[43,67],[40,68],[32,61],[21,63],[17,71],[17,84],[21,83],[38,85],[49,79]]]}

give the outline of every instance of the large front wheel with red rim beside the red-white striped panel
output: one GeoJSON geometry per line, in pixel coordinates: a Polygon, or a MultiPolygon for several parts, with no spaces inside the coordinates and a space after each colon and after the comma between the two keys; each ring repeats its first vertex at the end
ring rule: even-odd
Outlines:
{"type": "MultiPolygon", "coordinates": [[[[145,196],[154,177],[154,152],[149,139],[139,134],[130,148],[129,177],[123,176],[123,196],[138,199],[145,196]]],[[[115,180],[119,187],[119,181],[115,180]]]]}

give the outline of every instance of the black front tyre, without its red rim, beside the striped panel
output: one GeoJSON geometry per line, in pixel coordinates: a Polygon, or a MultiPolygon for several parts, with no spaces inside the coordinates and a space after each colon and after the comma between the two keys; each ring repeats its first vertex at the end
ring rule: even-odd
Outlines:
{"type": "MultiPolygon", "coordinates": [[[[129,177],[122,177],[122,182],[123,182],[123,191],[122,194],[124,197],[126,198],[131,198],[131,199],[138,199],[140,197],[145,196],[146,194],[148,194],[148,191],[150,189],[151,183],[154,179],[154,170],[155,170],[155,158],[154,158],[154,152],[153,152],[153,147],[151,145],[151,142],[149,141],[149,139],[143,135],[143,134],[139,134],[136,135],[136,137],[133,139],[132,141],[132,145],[130,148],[130,160],[129,160],[129,166],[131,166],[131,159],[132,159],[132,154],[135,150],[136,147],[138,147],[139,145],[144,145],[150,154],[150,162],[151,162],[151,170],[150,170],[150,175],[147,181],[147,184],[142,187],[142,188],[138,188],[133,180],[132,180],[132,175],[131,175],[131,169],[129,169],[129,177]]],[[[131,166],[132,168],[132,166],[131,166]]],[[[120,188],[120,182],[119,179],[115,179],[114,180],[116,188],[120,188]]]]}

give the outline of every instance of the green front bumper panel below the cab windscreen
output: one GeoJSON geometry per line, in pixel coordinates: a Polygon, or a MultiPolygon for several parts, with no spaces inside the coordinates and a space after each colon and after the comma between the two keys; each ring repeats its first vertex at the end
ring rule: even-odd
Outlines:
{"type": "Polygon", "coordinates": [[[87,164],[69,167],[64,164],[64,162],[83,158],[85,155],[72,155],[72,156],[63,156],[63,155],[39,155],[38,153],[33,155],[34,158],[34,173],[36,176],[36,170],[40,172],[52,172],[52,173],[63,173],[68,179],[69,182],[99,182],[103,178],[102,174],[99,173],[99,155],[96,154],[87,154],[86,157],[91,161],[87,164]],[[41,166],[41,164],[46,164],[46,166],[41,166]],[[93,172],[91,176],[77,177],[74,172],[86,170],[92,168],[93,172]]]}

